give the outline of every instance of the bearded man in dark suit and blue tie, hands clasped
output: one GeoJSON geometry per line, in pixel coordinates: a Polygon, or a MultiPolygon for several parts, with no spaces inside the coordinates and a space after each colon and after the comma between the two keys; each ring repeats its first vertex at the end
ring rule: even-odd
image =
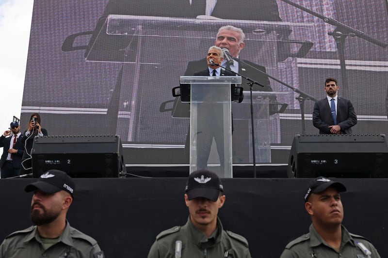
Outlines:
{"type": "Polygon", "coordinates": [[[313,125],[320,134],[352,134],[352,126],[357,123],[352,103],[338,97],[339,86],[335,78],[327,78],[324,89],[327,96],[314,105],[313,125]]]}

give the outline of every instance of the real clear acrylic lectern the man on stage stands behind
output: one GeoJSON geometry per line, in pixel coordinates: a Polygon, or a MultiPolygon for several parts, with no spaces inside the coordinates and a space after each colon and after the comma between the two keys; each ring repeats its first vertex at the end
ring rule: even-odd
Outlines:
{"type": "Polygon", "coordinates": [[[231,178],[231,84],[240,84],[241,76],[181,76],[180,83],[191,88],[190,173],[209,169],[231,178]]]}

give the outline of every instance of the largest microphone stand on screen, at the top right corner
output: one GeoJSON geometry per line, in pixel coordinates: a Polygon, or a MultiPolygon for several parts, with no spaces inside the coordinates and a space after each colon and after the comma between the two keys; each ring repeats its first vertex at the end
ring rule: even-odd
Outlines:
{"type": "MultiPolygon", "coordinates": [[[[321,14],[318,14],[310,9],[307,9],[304,6],[301,6],[299,4],[296,4],[290,0],[281,0],[285,3],[291,4],[292,6],[310,14],[314,15],[315,17],[318,17],[322,19],[325,23],[328,23],[330,25],[336,26],[336,29],[334,31],[327,32],[328,35],[333,36],[334,40],[336,41],[337,50],[338,50],[338,57],[339,57],[339,65],[340,65],[340,71],[341,71],[341,85],[344,86],[343,88],[347,91],[348,90],[348,78],[346,76],[346,64],[345,64],[345,39],[347,36],[351,37],[359,37],[366,41],[369,41],[377,46],[381,47],[387,47],[388,44],[385,42],[382,42],[378,39],[372,38],[368,35],[365,35],[365,32],[361,30],[356,30],[346,24],[340,23],[339,21],[323,16],[321,14]]],[[[342,90],[343,91],[343,90],[342,90]]]]}

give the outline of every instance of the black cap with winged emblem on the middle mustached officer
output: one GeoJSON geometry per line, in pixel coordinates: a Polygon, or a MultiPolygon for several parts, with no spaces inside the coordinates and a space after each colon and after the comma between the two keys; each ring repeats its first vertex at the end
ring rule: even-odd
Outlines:
{"type": "Polygon", "coordinates": [[[224,191],[224,187],[216,173],[208,170],[197,170],[189,175],[185,191],[189,200],[205,197],[216,201],[220,191],[224,191]]]}

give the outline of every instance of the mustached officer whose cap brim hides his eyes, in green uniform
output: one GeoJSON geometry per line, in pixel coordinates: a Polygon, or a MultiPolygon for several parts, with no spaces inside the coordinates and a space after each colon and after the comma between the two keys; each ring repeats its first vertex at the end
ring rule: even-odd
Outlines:
{"type": "Polygon", "coordinates": [[[218,176],[208,170],[190,174],[184,195],[189,208],[186,225],[162,231],[148,258],[250,258],[246,239],[224,230],[217,217],[225,203],[218,176]]]}

